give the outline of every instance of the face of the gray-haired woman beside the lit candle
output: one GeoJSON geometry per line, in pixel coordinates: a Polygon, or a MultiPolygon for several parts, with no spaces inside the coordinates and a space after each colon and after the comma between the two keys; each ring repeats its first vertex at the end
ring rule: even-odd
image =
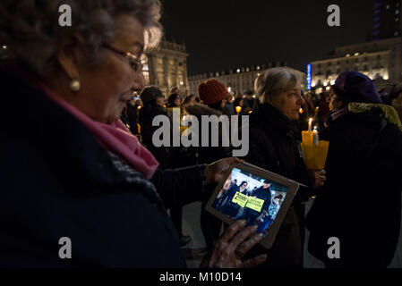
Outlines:
{"type": "Polygon", "coordinates": [[[276,97],[271,97],[271,105],[290,120],[298,120],[300,108],[304,104],[301,90],[300,82],[297,82],[294,89],[281,93],[276,97]]]}

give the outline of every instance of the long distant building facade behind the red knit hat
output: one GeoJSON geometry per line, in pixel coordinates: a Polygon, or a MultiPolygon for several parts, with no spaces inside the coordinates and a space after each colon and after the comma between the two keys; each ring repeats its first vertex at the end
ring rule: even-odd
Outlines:
{"type": "MultiPolygon", "coordinates": [[[[190,92],[194,95],[198,94],[197,88],[202,81],[209,80],[211,78],[217,79],[224,83],[229,92],[235,95],[244,95],[249,91],[254,90],[254,81],[260,76],[261,71],[267,70],[273,67],[287,66],[284,62],[271,62],[257,65],[238,67],[237,69],[227,71],[216,71],[210,73],[204,73],[199,75],[193,75],[189,77],[190,92]]],[[[302,77],[302,88],[305,90],[305,78],[306,74],[302,71],[300,77],[302,77]]]]}

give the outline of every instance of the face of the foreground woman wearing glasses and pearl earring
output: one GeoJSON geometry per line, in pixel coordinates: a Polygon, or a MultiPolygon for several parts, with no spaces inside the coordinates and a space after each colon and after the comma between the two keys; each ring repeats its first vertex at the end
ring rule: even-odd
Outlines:
{"type": "MultiPolygon", "coordinates": [[[[140,58],[144,46],[144,29],[140,21],[130,15],[121,15],[116,19],[115,27],[115,40],[108,45],[140,58]]],[[[74,64],[81,89],[73,95],[72,103],[98,122],[118,120],[124,105],[132,99],[133,91],[141,90],[145,85],[141,71],[134,71],[124,55],[110,49],[106,49],[102,63],[95,68],[74,64]]]]}

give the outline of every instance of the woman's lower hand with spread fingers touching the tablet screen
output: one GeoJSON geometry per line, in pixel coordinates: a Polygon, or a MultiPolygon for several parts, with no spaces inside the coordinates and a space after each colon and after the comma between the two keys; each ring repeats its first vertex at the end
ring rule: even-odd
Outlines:
{"type": "Polygon", "coordinates": [[[262,235],[255,234],[255,231],[257,226],[245,228],[245,221],[232,224],[217,240],[210,254],[204,257],[201,267],[252,268],[261,265],[267,259],[266,254],[242,261],[245,253],[262,240],[262,235]]]}

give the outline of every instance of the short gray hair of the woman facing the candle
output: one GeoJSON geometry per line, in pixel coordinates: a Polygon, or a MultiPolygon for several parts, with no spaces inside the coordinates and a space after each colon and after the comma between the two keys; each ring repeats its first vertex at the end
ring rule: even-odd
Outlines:
{"type": "Polygon", "coordinates": [[[254,82],[254,91],[261,103],[268,102],[268,97],[276,97],[295,88],[300,82],[297,71],[287,67],[272,68],[263,71],[254,82]]]}

